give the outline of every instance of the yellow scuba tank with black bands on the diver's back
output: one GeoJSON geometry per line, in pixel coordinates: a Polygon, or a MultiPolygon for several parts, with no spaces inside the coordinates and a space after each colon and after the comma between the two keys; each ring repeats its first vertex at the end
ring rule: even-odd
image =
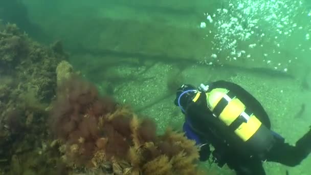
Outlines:
{"type": "Polygon", "coordinates": [[[224,88],[205,93],[210,111],[241,139],[243,149],[247,148],[251,155],[263,156],[272,147],[274,137],[271,130],[234,94],[224,88]]]}

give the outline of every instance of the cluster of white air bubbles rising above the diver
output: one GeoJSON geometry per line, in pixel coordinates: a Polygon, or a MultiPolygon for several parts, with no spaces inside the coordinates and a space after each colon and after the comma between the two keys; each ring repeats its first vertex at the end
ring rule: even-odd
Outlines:
{"type": "MultiPolygon", "coordinates": [[[[230,0],[225,6],[226,8],[219,8],[212,14],[204,13],[206,21],[201,23],[201,28],[206,28],[206,38],[212,37],[213,46],[212,54],[209,53],[206,60],[212,58],[219,61],[218,54],[223,57],[223,53],[228,53],[225,57],[230,61],[239,57],[254,60],[248,52],[258,47],[263,48],[265,43],[273,43],[272,47],[266,47],[269,47],[271,53],[280,54],[280,48],[286,46],[286,38],[292,34],[296,36],[297,33],[304,37],[302,40],[311,41],[311,9],[307,10],[302,1],[230,0]],[[300,21],[305,19],[309,24],[300,21]],[[243,43],[243,46],[239,46],[240,43],[243,43]]],[[[311,44],[308,47],[311,51],[311,44]]],[[[295,49],[299,48],[303,48],[302,44],[297,43],[295,49]]],[[[273,62],[268,55],[268,52],[263,53],[262,61],[266,64],[274,63],[274,69],[278,69],[281,63],[273,62]]],[[[292,59],[297,57],[287,58],[287,63],[292,62],[292,59]]],[[[213,64],[212,61],[201,63],[213,64]]],[[[287,72],[287,68],[282,70],[287,72]]]]}

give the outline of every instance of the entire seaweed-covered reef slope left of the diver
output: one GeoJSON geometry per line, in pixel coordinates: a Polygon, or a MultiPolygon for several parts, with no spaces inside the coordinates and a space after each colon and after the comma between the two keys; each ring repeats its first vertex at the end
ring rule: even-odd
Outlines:
{"type": "Polygon", "coordinates": [[[113,97],[42,46],[0,26],[0,174],[197,174],[198,148],[113,97]]]}

